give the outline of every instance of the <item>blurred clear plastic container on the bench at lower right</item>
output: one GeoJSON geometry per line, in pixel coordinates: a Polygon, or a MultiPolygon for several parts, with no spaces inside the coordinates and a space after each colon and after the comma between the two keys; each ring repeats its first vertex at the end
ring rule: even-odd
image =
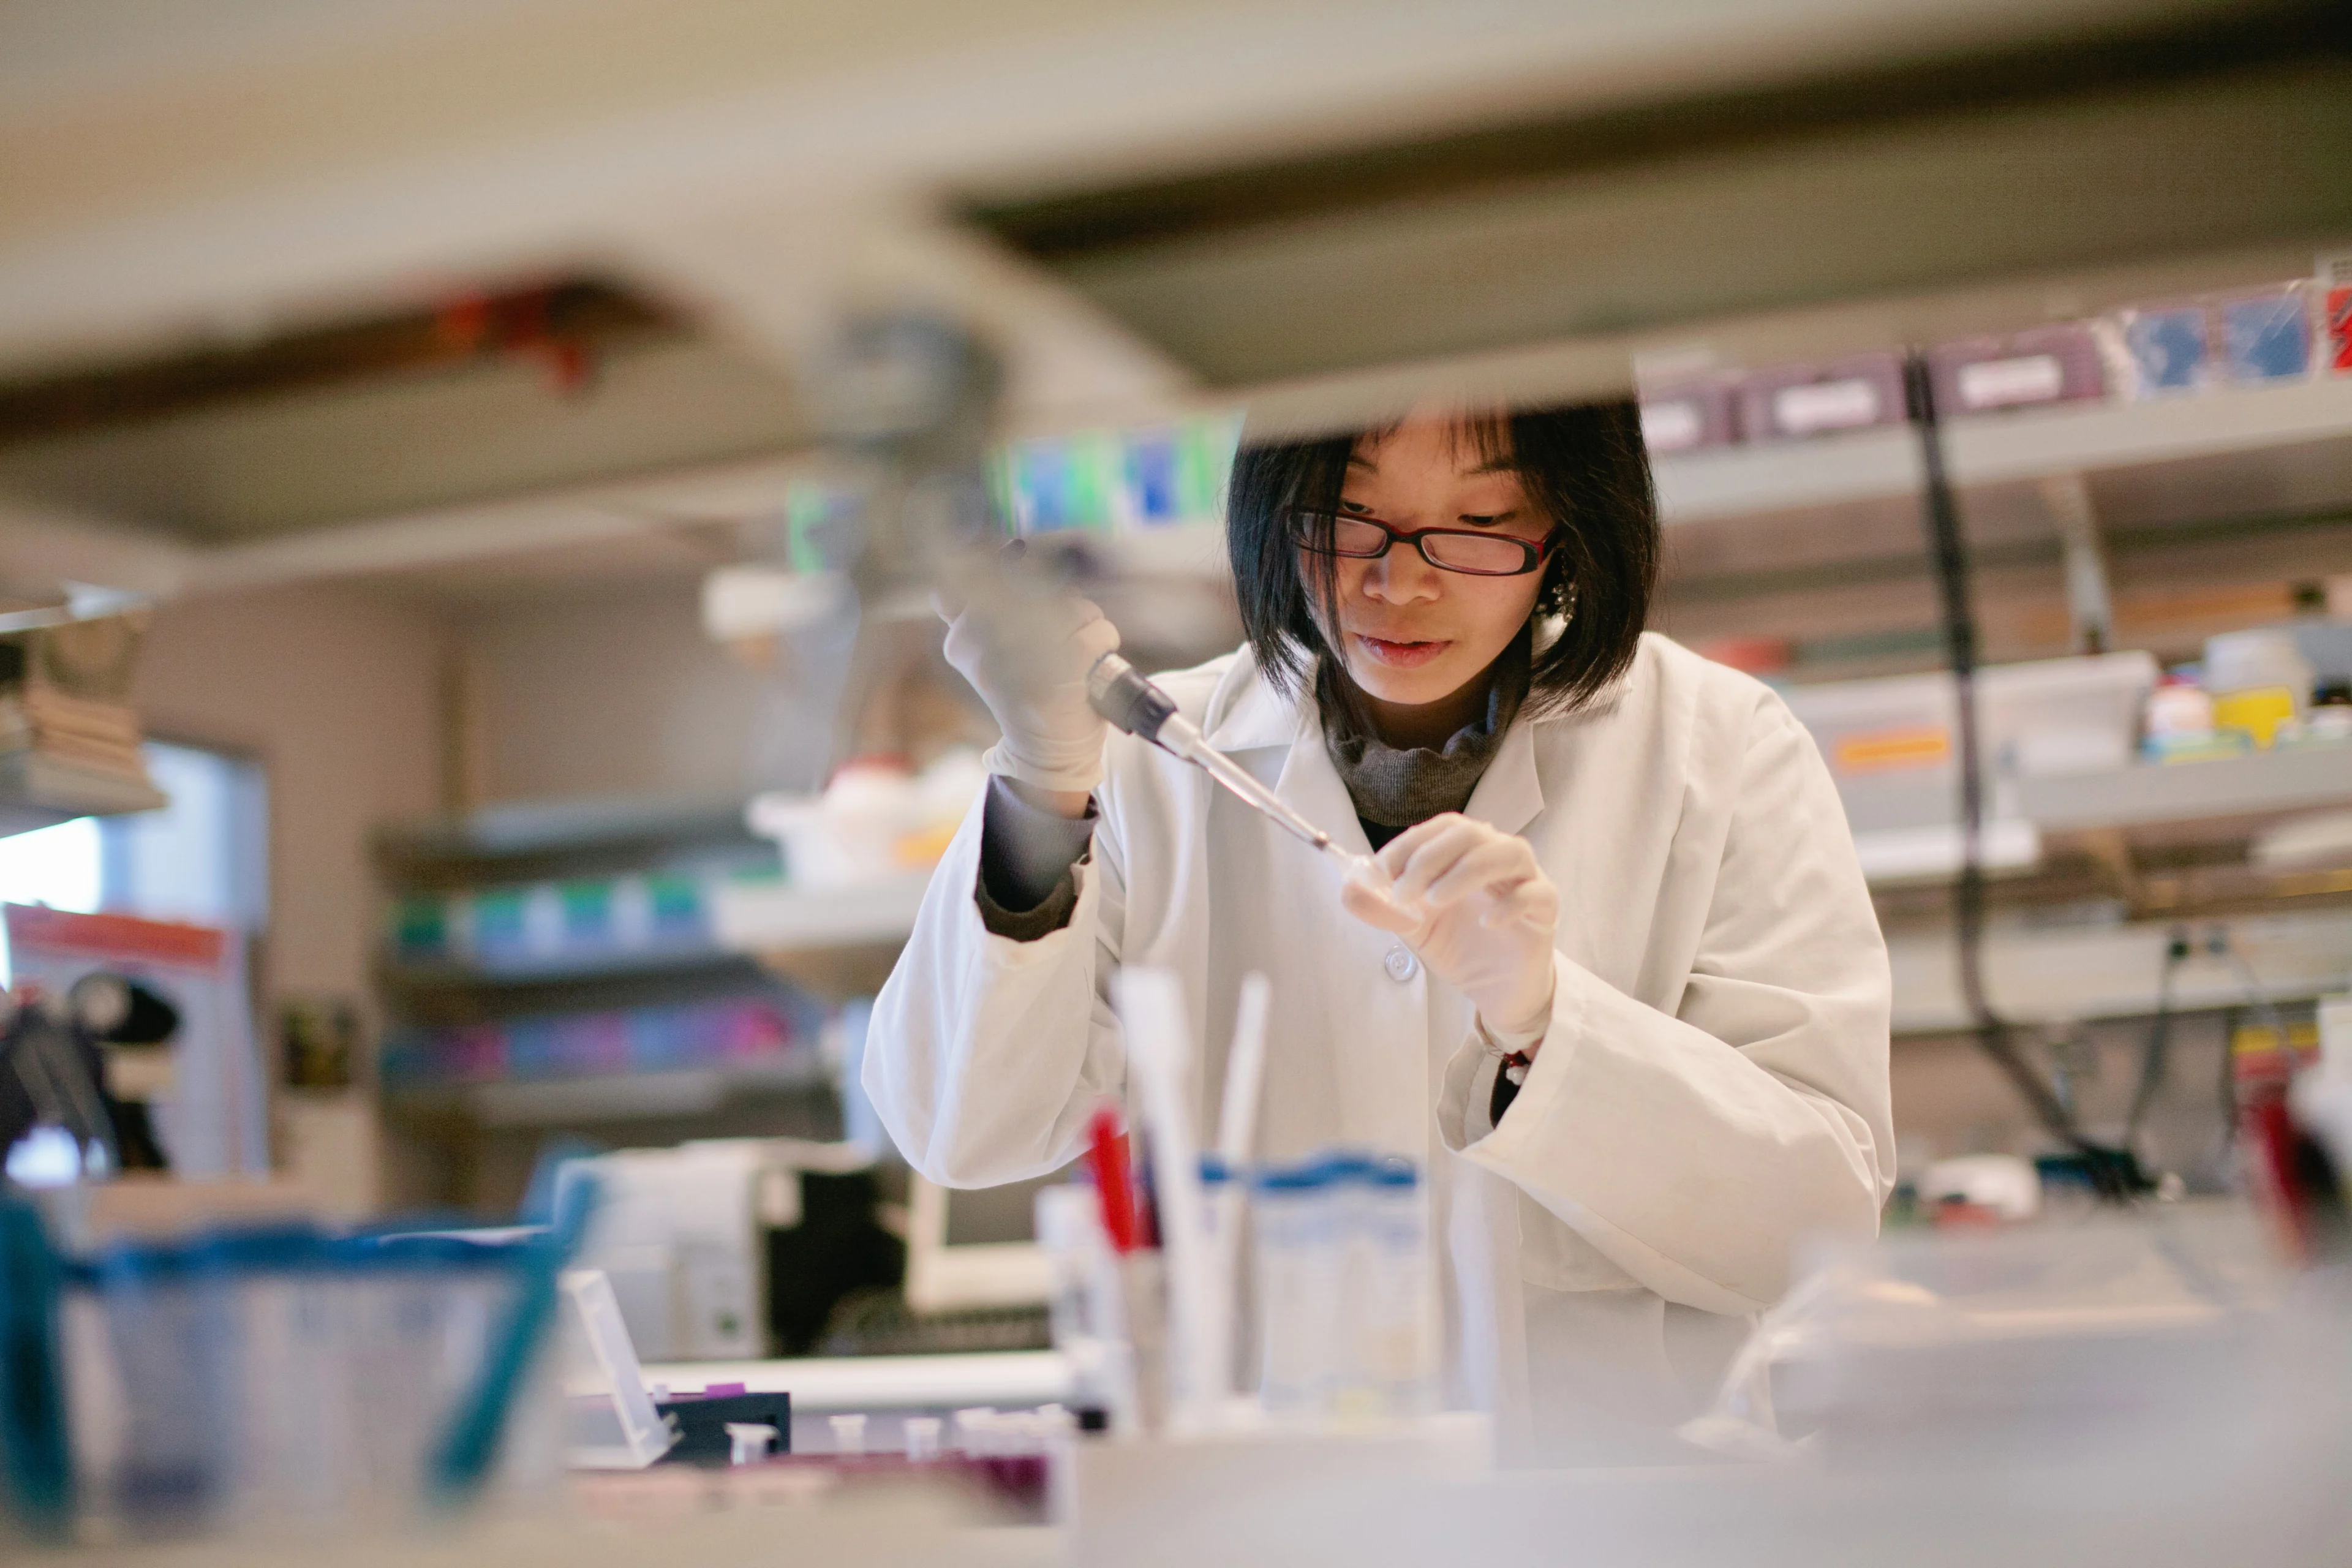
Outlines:
{"type": "Polygon", "coordinates": [[[2298,1378],[2260,1342],[2286,1281],[2239,1208],[1919,1229],[1811,1253],[1710,1415],[1684,1427],[1693,1441],[1790,1453],[1818,1434],[1830,1465],[2096,1455],[2126,1474],[2213,1441],[2298,1378]]]}

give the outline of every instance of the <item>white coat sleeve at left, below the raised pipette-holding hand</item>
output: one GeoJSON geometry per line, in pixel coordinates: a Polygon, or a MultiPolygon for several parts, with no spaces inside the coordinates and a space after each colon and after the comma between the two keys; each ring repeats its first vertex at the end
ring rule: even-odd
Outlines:
{"type": "Polygon", "coordinates": [[[1117,964],[1117,846],[1073,867],[1077,907],[1035,940],[995,936],[974,889],[983,804],[931,875],[915,931],[875,997],[861,1081],[891,1143],[943,1187],[1044,1175],[1077,1154],[1094,1107],[1124,1081],[1098,976],[1117,964]]]}

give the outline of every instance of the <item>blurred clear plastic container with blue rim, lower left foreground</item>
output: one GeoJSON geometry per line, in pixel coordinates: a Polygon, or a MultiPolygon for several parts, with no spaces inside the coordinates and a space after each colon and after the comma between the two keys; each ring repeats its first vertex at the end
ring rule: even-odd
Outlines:
{"type": "Polygon", "coordinates": [[[435,1481],[477,1495],[442,1474],[466,1410],[494,1427],[489,1493],[553,1486],[560,1406],[536,1338],[496,1373],[541,1267],[524,1241],[313,1227],[96,1253],[64,1309],[82,1509],[143,1537],[386,1526],[435,1481]]]}

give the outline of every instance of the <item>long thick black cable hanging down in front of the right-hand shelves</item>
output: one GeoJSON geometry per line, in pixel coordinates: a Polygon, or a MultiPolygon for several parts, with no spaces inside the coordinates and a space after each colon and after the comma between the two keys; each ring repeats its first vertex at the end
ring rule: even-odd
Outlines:
{"type": "Polygon", "coordinates": [[[1959,501],[1943,458],[1943,425],[1936,416],[1936,383],[1926,357],[1903,360],[1903,388],[1912,428],[1919,433],[1919,505],[1926,515],[1929,559],[1943,609],[1943,644],[1952,668],[1955,729],[1959,736],[1959,877],[1952,884],[1952,926],[1959,945],[1959,997],[1969,1009],[1978,1048],[2025,1098],[2042,1126],[2082,1157],[2100,1197],[2126,1199],[2147,1190],[2131,1150],[2093,1143],[2074,1124],[2058,1091],[2018,1051],[2009,1023],[1985,997],[1985,776],[1983,736],[1976,715],[1976,609],[1969,602],[1969,550],[1959,536],[1959,501]]]}

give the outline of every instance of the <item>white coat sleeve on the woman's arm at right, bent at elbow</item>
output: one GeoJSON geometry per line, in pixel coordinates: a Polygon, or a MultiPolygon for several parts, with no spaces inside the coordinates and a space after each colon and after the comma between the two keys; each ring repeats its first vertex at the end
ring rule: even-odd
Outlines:
{"type": "Polygon", "coordinates": [[[1886,945],[1828,769],[1776,698],[1750,717],[1736,790],[1677,1011],[1555,954],[1552,1023],[1510,1112],[1465,1140],[1472,1046],[1439,1114],[1468,1159],[1708,1312],[1771,1305],[1809,1234],[1877,1234],[1893,1182],[1886,945]]]}

